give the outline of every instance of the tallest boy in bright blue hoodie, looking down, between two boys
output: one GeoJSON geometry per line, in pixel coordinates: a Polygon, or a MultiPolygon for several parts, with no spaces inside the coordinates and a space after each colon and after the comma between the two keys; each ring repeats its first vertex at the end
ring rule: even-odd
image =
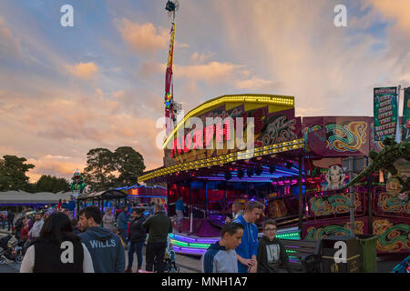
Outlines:
{"type": "Polygon", "coordinates": [[[261,217],[263,205],[258,201],[250,201],[246,205],[245,214],[233,222],[243,226],[241,245],[236,248],[239,273],[256,273],[258,270],[258,227],[255,222],[261,217]]]}

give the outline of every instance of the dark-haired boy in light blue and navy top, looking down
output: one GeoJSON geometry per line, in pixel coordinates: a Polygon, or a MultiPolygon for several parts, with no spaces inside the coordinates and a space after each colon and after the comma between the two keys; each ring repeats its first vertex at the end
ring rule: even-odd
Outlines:
{"type": "Polygon", "coordinates": [[[210,245],[200,258],[203,273],[238,273],[238,258],[235,252],[241,244],[243,226],[227,223],[220,232],[220,241],[210,245]]]}

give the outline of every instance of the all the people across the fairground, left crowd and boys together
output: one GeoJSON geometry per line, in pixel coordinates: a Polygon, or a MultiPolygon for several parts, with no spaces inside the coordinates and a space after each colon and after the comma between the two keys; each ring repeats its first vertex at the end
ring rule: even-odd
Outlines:
{"type": "MultiPolygon", "coordinates": [[[[183,201],[179,201],[177,210],[182,212],[183,201]]],[[[154,214],[146,216],[143,208],[127,205],[116,213],[108,208],[105,214],[97,206],[88,206],[73,218],[61,203],[54,213],[20,216],[14,227],[15,237],[23,242],[25,249],[20,272],[131,273],[134,256],[137,256],[136,272],[164,272],[164,256],[173,227],[164,206],[156,204],[154,208],[154,214]]],[[[260,202],[249,202],[244,211],[241,203],[233,203],[220,240],[201,257],[202,272],[276,273],[282,272],[280,265],[292,272],[284,246],[275,237],[274,220],[264,221],[263,236],[258,238],[255,222],[262,211],[260,202]]],[[[5,220],[11,213],[8,212],[5,220]]],[[[180,216],[179,213],[177,225],[180,216]]]]}

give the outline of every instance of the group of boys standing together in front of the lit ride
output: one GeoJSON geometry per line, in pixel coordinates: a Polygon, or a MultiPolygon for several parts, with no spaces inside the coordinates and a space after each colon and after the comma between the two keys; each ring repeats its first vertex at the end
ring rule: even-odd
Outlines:
{"type": "Polygon", "coordinates": [[[220,240],[212,244],[201,257],[204,273],[278,273],[282,264],[292,273],[289,257],[276,236],[277,223],[272,219],[262,225],[263,236],[258,238],[255,222],[261,217],[263,205],[251,201],[245,211],[241,205],[232,206],[232,218],[227,217],[220,240]]]}

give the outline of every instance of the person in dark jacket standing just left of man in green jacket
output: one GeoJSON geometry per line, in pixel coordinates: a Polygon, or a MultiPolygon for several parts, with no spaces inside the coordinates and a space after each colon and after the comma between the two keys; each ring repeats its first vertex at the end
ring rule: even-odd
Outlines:
{"type": "Polygon", "coordinates": [[[147,238],[147,231],[142,226],[146,217],[144,216],[144,209],[138,208],[131,213],[131,223],[129,225],[128,239],[131,246],[128,250],[128,267],[126,273],[132,272],[132,263],[134,262],[134,252],[137,253],[138,267],[137,273],[142,266],[142,248],[144,247],[145,239],[147,238]]]}

